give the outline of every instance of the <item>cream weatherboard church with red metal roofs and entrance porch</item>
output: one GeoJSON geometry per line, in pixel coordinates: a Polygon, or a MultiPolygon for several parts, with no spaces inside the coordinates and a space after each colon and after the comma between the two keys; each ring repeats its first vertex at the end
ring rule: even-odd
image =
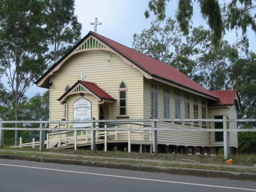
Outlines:
{"type": "MultiPolygon", "coordinates": [[[[95,32],[89,32],[54,64],[35,84],[49,89],[50,120],[95,119],[236,119],[241,105],[236,89],[209,91],[176,70],[95,32]]],[[[112,123],[113,124],[113,123],[112,123]]],[[[127,125],[98,125],[122,127],[127,125]]],[[[51,125],[87,127],[86,123],[51,125]]],[[[131,126],[148,126],[132,124],[131,126]]],[[[222,128],[212,122],[157,122],[157,127],[222,128]]],[[[230,122],[230,128],[237,124],[230,122]]],[[[79,147],[90,146],[90,131],[77,131],[79,147]]],[[[111,131],[108,131],[111,132],[111,131]]],[[[74,147],[74,132],[49,134],[48,148],[74,147]]],[[[96,134],[96,146],[104,148],[104,131],[96,134]],[[103,134],[101,134],[103,132],[103,134]]],[[[134,131],[132,151],[151,150],[149,131],[134,131]]],[[[127,131],[113,131],[108,149],[124,150],[127,131]]],[[[160,151],[206,151],[223,146],[222,132],[157,131],[160,151]]],[[[230,146],[238,148],[237,133],[230,133],[230,146]]],[[[106,148],[105,148],[106,150],[106,148]]],[[[203,152],[204,153],[204,152],[203,152]]]]}

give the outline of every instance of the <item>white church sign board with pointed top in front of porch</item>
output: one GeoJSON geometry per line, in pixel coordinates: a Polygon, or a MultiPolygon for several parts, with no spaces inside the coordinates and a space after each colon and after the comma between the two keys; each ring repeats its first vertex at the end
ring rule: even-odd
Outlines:
{"type": "MultiPolygon", "coordinates": [[[[73,104],[73,120],[84,121],[90,120],[92,116],[92,103],[81,97],[73,104]]],[[[90,123],[74,123],[74,128],[89,127],[90,123]]]]}

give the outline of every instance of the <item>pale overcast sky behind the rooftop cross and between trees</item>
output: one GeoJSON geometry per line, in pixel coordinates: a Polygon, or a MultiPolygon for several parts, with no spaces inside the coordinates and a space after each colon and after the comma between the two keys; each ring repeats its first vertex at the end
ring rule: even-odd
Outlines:
{"type": "MultiPolygon", "coordinates": [[[[167,7],[167,16],[171,16],[173,19],[175,19],[174,15],[177,9],[176,3],[177,1],[173,0],[167,7]]],[[[150,22],[155,19],[154,15],[145,19],[143,13],[146,8],[147,0],[76,0],[75,14],[82,24],[82,37],[90,30],[93,31],[93,26],[90,23],[94,22],[95,17],[98,17],[98,22],[101,22],[102,25],[97,27],[97,33],[131,47],[134,33],[140,33],[142,29],[149,28],[150,22]]],[[[202,20],[196,3],[192,21],[193,26],[203,25],[208,28],[202,20]]],[[[250,42],[254,42],[255,33],[250,30],[247,34],[250,42]]],[[[236,33],[227,33],[224,39],[233,44],[236,41],[236,33]]],[[[250,50],[255,52],[256,47],[250,44],[250,50]]],[[[45,90],[33,85],[26,95],[32,97],[35,93],[44,93],[45,90]]]]}

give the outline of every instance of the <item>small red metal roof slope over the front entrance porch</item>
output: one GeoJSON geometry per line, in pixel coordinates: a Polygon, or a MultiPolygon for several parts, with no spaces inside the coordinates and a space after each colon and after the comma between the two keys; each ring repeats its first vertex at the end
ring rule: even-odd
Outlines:
{"type": "Polygon", "coordinates": [[[81,80],[79,80],[79,82],[81,84],[83,84],[85,87],[87,87],[91,92],[93,92],[100,99],[116,100],[112,96],[110,96],[108,93],[106,93],[105,90],[98,87],[98,85],[96,85],[95,83],[92,83],[92,82],[89,82],[89,81],[81,81],[81,80]]]}

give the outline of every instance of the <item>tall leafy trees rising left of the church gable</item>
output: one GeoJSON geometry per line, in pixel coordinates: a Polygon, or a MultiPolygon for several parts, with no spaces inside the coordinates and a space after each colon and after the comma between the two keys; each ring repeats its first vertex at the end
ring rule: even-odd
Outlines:
{"type": "Polygon", "coordinates": [[[0,84],[13,96],[15,120],[31,83],[51,61],[64,55],[80,34],[74,0],[0,0],[0,73],[8,79],[8,84],[0,84]]]}

